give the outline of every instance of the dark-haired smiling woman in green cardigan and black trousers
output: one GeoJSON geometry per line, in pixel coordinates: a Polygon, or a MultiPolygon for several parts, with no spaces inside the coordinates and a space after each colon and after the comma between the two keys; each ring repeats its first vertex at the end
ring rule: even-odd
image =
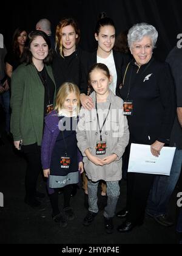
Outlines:
{"type": "Polygon", "coordinates": [[[36,190],[36,183],[41,171],[44,116],[55,102],[51,61],[49,38],[40,30],[32,31],[25,44],[22,65],[12,75],[11,132],[15,148],[22,149],[27,159],[25,203],[32,207],[39,207],[38,198],[45,196],[36,190]]]}

